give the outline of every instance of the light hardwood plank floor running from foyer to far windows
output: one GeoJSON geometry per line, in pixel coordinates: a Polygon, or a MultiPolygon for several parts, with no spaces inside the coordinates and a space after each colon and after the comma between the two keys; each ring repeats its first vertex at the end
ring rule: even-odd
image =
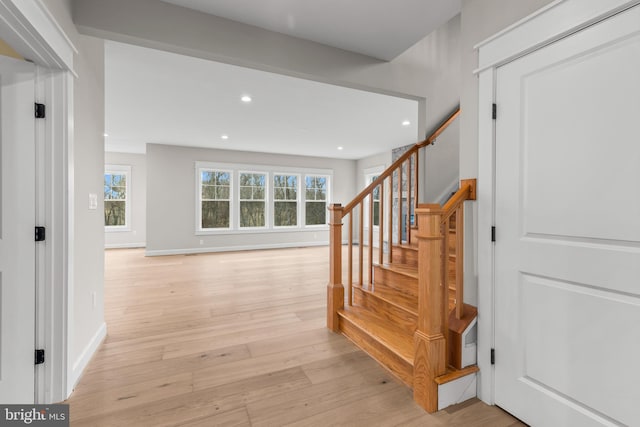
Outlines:
{"type": "Polygon", "coordinates": [[[106,251],[108,335],[69,399],[81,426],[515,426],[473,400],[429,415],[325,327],[328,248],[106,251]]]}

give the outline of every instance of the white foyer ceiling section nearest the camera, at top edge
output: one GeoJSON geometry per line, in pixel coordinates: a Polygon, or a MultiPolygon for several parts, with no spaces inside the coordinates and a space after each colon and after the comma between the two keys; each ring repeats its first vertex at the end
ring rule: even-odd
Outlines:
{"type": "Polygon", "coordinates": [[[460,0],[162,0],[391,60],[460,12],[460,0]]]}

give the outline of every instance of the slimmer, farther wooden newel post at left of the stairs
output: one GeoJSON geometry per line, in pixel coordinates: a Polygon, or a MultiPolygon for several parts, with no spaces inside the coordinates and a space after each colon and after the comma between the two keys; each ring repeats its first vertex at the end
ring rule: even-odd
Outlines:
{"type": "Polygon", "coordinates": [[[338,310],[344,307],[342,286],[342,205],[329,206],[329,284],[327,285],[327,328],[338,332],[338,310]]]}

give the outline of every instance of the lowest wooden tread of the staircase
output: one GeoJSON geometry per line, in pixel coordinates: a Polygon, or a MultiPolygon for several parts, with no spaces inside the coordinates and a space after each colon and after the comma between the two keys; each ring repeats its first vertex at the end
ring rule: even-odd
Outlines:
{"type": "Polygon", "coordinates": [[[413,331],[406,331],[388,320],[356,306],[345,306],[338,310],[338,315],[413,366],[413,331]]]}

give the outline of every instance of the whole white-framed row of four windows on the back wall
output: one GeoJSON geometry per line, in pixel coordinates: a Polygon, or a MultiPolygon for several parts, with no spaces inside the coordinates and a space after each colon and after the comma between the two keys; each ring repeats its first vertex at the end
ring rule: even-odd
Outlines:
{"type": "Polygon", "coordinates": [[[330,169],[195,162],[195,234],[327,228],[330,169]]]}

